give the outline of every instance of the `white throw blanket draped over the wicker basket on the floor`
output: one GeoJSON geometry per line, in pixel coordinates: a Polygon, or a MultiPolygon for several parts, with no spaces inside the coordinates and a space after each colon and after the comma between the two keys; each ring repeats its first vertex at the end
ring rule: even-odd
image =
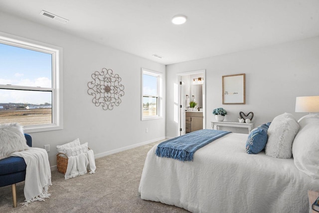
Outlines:
{"type": "Polygon", "coordinates": [[[90,174],[95,173],[95,160],[93,150],[89,150],[86,153],[81,153],[76,156],[68,157],[68,166],[64,179],[75,178],[87,173],[87,170],[91,170],[90,174]]]}

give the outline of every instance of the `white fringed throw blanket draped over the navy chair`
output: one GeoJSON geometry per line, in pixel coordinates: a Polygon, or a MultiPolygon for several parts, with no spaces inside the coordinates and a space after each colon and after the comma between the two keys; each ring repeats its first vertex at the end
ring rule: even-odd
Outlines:
{"type": "Polygon", "coordinates": [[[28,150],[14,152],[10,156],[21,157],[26,164],[23,206],[34,201],[44,201],[51,183],[51,170],[48,154],[44,149],[30,147],[28,150]]]}

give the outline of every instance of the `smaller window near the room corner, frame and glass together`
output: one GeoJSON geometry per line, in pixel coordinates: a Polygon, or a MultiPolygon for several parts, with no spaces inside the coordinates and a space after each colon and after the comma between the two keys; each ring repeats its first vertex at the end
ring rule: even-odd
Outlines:
{"type": "Polygon", "coordinates": [[[161,117],[162,75],[142,68],[142,120],[161,117]]]}

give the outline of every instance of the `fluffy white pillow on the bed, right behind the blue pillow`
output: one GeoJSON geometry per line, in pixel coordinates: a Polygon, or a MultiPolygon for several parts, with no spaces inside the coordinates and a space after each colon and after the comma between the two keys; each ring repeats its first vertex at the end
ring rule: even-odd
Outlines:
{"type": "Polygon", "coordinates": [[[299,128],[292,114],[284,113],[276,116],[267,132],[266,155],[274,158],[291,158],[293,141],[299,128]]]}

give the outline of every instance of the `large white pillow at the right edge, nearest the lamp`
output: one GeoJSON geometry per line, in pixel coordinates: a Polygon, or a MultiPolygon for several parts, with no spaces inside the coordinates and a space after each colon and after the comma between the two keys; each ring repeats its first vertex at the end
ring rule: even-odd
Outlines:
{"type": "Polygon", "coordinates": [[[319,179],[319,115],[306,115],[298,122],[300,130],[293,143],[295,165],[311,178],[319,179]]]}

